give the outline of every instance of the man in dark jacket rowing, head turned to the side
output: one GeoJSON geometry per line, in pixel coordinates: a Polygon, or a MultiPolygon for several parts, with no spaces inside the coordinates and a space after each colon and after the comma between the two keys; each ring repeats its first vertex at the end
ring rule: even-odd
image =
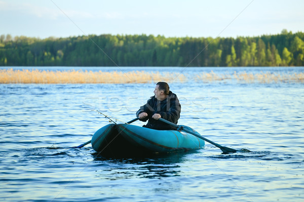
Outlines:
{"type": "Polygon", "coordinates": [[[176,94],[169,90],[169,85],[166,82],[158,82],[154,94],[144,106],[140,107],[136,116],[141,121],[148,120],[148,123],[143,127],[156,130],[176,130],[174,127],[159,121],[160,118],[163,118],[177,124],[180,104],[176,94]]]}

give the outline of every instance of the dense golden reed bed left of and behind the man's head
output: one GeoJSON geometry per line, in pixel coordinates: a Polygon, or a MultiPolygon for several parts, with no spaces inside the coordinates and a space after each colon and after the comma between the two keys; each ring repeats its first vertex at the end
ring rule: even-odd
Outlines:
{"type": "Polygon", "coordinates": [[[160,72],[93,72],[82,70],[40,71],[40,70],[0,70],[0,83],[43,83],[43,84],[82,84],[82,83],[148,83],[157,81],[185,81],[184,75],[160,72]]]}

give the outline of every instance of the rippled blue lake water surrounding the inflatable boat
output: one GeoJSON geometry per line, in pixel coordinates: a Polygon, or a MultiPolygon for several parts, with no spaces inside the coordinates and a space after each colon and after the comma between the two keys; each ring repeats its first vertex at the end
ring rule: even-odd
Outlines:
{"type": "MultiPolygon", "coordinates": [[[[304,72],[303,67],[157,69],[211,70],[304,72]]],[[[207,142],[199,150],[145,158],[96,156],[90,144],[69,148],[108,124],[95,110],[130,121],[154,87],[153,82],[1,84],[1,200],[304,201],[304,84],[299,82],[170,84],[182,105],[179,124],[251,153],[226,155],[207,142]]]]}

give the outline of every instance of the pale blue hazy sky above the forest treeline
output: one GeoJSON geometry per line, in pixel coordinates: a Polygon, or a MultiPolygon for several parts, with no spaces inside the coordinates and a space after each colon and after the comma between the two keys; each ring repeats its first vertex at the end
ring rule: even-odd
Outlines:
{"type": "Polygon", "coordinates": [[[0,0],[0,34],[237,37],[304,32],[302,0],[0,0]]]}

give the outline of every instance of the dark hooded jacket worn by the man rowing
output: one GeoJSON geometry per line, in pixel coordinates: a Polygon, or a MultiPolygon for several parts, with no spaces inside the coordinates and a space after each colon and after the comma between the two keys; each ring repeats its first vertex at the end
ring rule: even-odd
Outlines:
{"type": "Polygon", "coordinates": [[[148,99],[144,106],[141,106],[137,111],[136,116],[142,112],[148,114],[145,119],[140,119],[141,121],[147,121],[148,123],[143,127],[156,129],[156,130],[176,130],[176,128],[152,118],[154,114],[160,114],[163,119],[166,119],[174,124],[177,124],[177,120],[180,116],[180,104],[176,94],[169,92],[166,99],[160,101],[155,98],[155,95],[148,99]]]}

